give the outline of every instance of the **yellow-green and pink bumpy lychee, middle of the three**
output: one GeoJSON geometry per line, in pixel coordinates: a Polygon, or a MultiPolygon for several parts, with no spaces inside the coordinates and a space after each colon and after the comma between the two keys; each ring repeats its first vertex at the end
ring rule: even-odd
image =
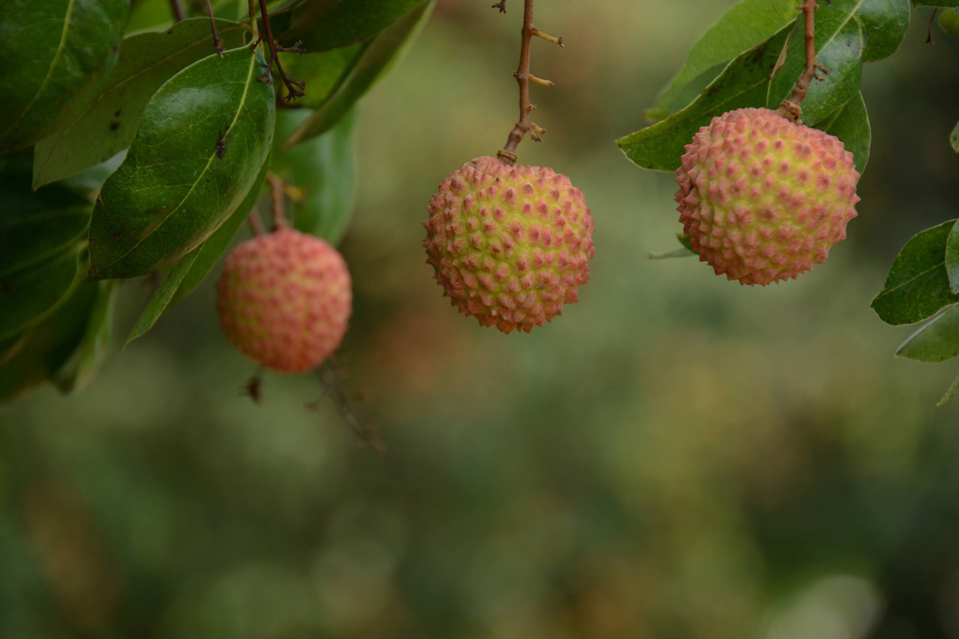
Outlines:
{"type": "Polygon", "coordinates": [[[429,213],[427,263],[481,326],[529,332],[590,279],[593,217],[583,192],[552,169],[479,157],[443,180],[429,213]]]}

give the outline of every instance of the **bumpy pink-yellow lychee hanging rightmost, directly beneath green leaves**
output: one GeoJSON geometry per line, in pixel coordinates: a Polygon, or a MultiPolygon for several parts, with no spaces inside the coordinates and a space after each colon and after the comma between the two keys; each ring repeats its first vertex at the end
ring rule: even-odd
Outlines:
{"type": "Polygon", "coordinates": [[[676,171],[679,220],[702,262],[741,285],[793,279],[825,262],[856,216],[853,154],[773,110],[713,118],[676,171]]]}

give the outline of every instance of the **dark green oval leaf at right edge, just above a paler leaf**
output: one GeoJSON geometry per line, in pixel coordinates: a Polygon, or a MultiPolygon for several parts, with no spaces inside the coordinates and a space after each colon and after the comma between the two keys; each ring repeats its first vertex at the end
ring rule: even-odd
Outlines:
{"type": "Polygon", "coordinates": [[[949,290],[946,242],[956,220],[926,229],[906,242],[872,307],[886,324],[915,324],[959,302],[949,290]]]}

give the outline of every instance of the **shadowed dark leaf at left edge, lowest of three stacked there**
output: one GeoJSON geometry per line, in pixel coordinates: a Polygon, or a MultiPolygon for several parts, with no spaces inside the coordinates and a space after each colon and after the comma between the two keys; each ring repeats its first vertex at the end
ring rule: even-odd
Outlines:
{"type": "Polygon", "coordinates": [[[78,285],[49,317],[0,357],[0,401],[16,399],[61,371],[84,341],[99,284],[78,285]]]}

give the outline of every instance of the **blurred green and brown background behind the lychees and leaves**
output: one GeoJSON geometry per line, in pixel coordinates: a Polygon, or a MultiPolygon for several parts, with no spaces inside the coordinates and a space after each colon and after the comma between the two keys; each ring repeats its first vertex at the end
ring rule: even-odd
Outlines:
{"type": "MultiPolygon", "coordinates": [[[[670,175],[613,144],[732,2],[537,3],[546,142],[596,219],[593,278],[550,326],[459,316],[424,263],[437,184],[516,119],[521,11],[441,1],[368,97],[356,308],[332,370],[268,376],[212,283],[82,393],[0,408],[0,636],[298,639],[959,637],[959,366],[893,360],[869,308],[905,240],[955,217],[959,40],[865,71],[850,240],[796,282],[692,259],[670,175]]],[[[243,233],[246,233],[244,231],[243,233]]],[[[119,332],[148,298],[130,282],[119,332]]]]}

